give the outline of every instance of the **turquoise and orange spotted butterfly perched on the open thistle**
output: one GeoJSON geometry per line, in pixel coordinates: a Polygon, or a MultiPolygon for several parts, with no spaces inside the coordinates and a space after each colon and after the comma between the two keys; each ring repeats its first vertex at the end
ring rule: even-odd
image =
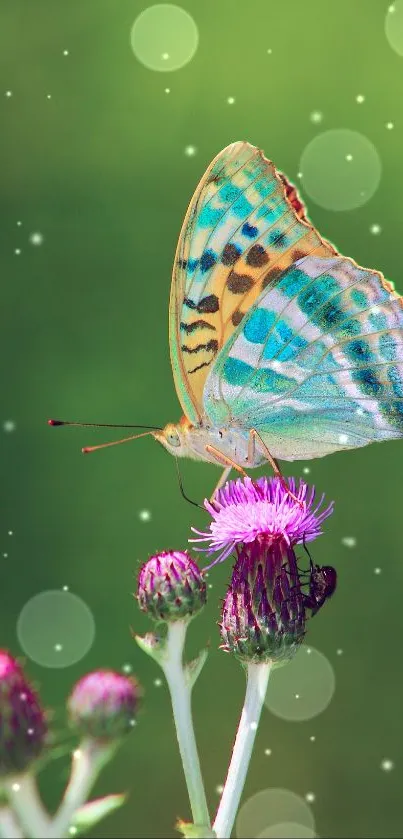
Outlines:
{"type": "Polygon", "coordinates": [[[169,305],[183,417],[175,457],[244,472],[403,436],[403,306],[338,253],[297,190],[247,142],[221,151],[188,207],[169,305]]]}

